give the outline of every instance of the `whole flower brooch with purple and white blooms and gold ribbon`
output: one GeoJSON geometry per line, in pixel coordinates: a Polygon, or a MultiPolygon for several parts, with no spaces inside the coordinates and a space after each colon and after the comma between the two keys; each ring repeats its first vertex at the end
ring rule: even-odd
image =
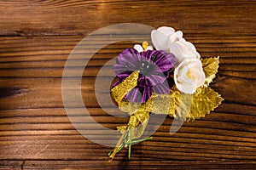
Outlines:
{"type": "Polygon", "coordinates": [[[218,57],[202,59],[195,46],[183,38],[182,31],[162,26],[151,32],[151,41],[136,44],[118,55],[113,71],[117,81],[111,87],[113,100],[120,111],[129,114],[116,153],[141,139],[152,114],[165,114],[183,122],[206,116],[224,100],[209,87],[218,72],[218,57]]]}

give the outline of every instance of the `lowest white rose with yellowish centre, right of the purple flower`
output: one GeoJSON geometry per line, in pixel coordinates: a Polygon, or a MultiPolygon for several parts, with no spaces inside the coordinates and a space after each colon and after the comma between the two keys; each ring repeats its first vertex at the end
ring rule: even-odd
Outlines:
{"type": "Polygon", "coordinates": [[[178,90],[194,94],[206,80],[200,59],[184,59],[174,70],[174,82],[178,90]]]}

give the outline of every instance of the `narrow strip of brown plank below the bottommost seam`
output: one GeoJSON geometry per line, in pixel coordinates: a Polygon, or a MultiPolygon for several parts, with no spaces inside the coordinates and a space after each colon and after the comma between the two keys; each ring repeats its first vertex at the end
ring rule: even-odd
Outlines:
{"type": "MultiPolygon", "coordinates": [[[[119,164],[117,162],[102,162],[102,161],[95,161],[96,163],[102,164],[102,168],[104,169],[113,169],[113,168],[122,168],[126,169],[138,169],[138,168],[146,168],[146,169],[188,169],[194,167],[195,169],[253,169],[255,167],[254,162],[226,162],[225,164],[222,162],[175,162],[175,161],[124,161],[124,164],[119,164]],[[138,166],[139,165],[139,166],[138,166]],[[172,166],[170,166],[172,165],[172,166]]],[[[90,161],[26,161],[24,164],[26,169],[33,169],[33,168],[75,168],[75,169],[96,169],[96,167],[90,165],[90,161]]]]}

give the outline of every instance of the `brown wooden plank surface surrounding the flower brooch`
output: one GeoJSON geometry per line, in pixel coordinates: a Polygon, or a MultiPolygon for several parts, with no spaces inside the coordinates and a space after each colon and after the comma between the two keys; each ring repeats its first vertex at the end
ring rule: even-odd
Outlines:
{"type": "MultiPolygon", "coordinates": [[[[1,1],[0,169],[253,169],[255,7],[255,1],[245,0],[1,1]],[[68,54],[80,40],[103,26],[125,22],[172,26],[183,31],[201,56],[220,56],[212,88],[225,100],[211,115],[185,122],[173,135],[172,118],[166,118],[154,139],[132,148],[130,161],[122,150],[108,163],[111,148],[85,139],[67,118],[61,76],[68,54]]],[[[91,116],[105,127],[114,129],[128,119],[99,108],[93,93],[96,73],[131,45],[103,48],[84,71],[83,98],[91,116]]],[[[73,69],[79,66],[83,65],[73,69]]]]}

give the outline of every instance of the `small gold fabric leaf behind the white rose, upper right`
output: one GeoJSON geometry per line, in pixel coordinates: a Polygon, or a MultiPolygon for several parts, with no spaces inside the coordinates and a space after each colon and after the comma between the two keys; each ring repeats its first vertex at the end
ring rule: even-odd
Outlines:
{"type": "Polygon", "coordinates": [[[218,72],[218,64],[219,60],[218,57],[215,58],[207,58],[202,59],[202,67],[206,74],[206,82],[204,86],[209,86],[209,84],[212,82],[213,78],[215,78],[216,73],[218,72]]]}

